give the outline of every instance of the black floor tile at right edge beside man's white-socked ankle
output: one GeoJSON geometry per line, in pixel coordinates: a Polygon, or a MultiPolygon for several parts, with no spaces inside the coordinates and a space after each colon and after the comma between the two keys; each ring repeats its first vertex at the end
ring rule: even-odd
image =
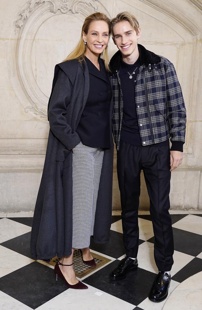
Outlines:
{"type": "MultiPolygon", "coordinates": [[[[195,273],[202,271],[202,259],[195,257],[185,267],[179,270],[173,277],[172,280],[182,282],[187,278],[193,276],[195,273]]],[[[171,270],[172,272],[172,270],[171,270]]]]}

